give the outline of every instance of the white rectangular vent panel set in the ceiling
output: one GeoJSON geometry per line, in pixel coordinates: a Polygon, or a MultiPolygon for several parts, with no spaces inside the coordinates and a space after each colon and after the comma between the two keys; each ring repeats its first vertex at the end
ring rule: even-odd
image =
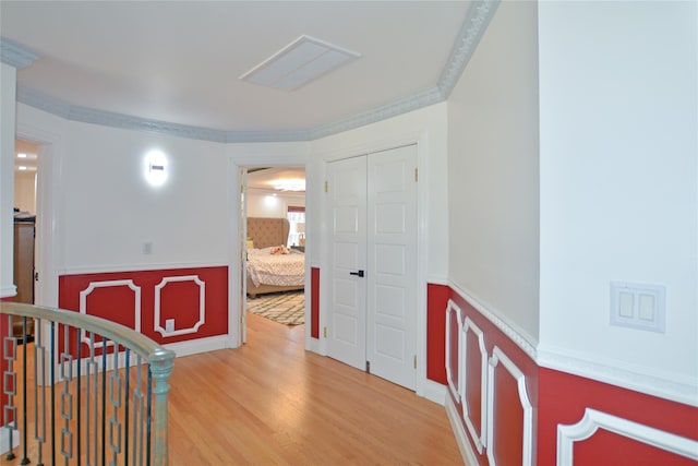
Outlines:
{"type": "Polygon", "coordinates": [[[240,76],[241,80],[278,89],[293,91],[361,57],[310,36],[300,36],[240,76]]]}

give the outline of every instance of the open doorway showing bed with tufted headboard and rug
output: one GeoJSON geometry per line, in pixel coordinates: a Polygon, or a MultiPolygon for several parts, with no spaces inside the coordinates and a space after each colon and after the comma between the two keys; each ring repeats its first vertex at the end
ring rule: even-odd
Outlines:
{"type": "Polygon", "coordinates": [[[304,333],[305,168],[242,167],[241,323],[249,313],[304,333]]]}

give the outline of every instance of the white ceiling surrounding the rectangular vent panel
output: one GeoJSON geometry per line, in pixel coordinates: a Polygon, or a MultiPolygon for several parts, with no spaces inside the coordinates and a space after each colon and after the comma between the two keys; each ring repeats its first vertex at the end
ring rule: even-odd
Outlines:
{"type": "Polygon", "coordinates": [[[38,56],[17,72],[19,96],[33,101],[274,133],[437,89],[471,3],[2,0],[0,31],[38,56]],[[239,79],[302,35],[360,57],[294,91],[239,79]]]}

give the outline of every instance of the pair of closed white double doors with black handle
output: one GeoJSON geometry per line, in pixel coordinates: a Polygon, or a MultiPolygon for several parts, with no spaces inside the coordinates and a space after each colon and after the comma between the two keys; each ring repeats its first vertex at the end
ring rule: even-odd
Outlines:
{"type": "Polygon", "coordinates": [[[416,146],[329,164],[329,356],[416,384],[416,146]]]}

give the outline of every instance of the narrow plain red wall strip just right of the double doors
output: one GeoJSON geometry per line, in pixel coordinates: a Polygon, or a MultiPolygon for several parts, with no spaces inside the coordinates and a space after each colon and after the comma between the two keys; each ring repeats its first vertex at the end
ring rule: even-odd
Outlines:
{"type": "Polygon", "coordinates": [[[426,285],[426,378],[446,385],[446,313],[450,288],[426,285]]]}

